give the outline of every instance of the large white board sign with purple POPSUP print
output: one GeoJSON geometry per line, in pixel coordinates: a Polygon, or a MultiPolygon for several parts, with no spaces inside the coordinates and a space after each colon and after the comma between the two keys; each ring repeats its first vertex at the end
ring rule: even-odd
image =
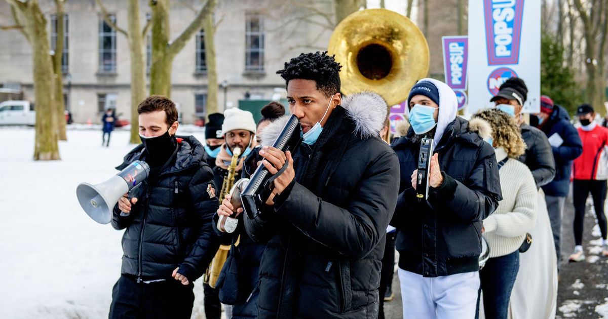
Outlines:
{"type": "Polygon", "coordinates": [[[539,112],[541,1],[469,0],[468,39],[468,112],[493,106],[489,100],[510,77],[528,87],[523,112],[539,112]]]}

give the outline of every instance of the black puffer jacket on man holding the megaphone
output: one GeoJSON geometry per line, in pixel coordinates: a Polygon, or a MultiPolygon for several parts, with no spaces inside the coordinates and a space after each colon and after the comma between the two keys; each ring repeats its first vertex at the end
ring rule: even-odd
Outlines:
{"type": "MultiPolygon", "coordinates": [[[[218,198],[204,149],[192,136],[178,138],[178,145],[176,157],[159,173],[156,185],[143,182],[128,216],[120,216],[118,205],[114,207],[112,227],[126,228],[123,274],[166,279],[179,266],[179,272],[192,282],[205,272],[218,250],[211,227],[218,198]]],[[[143,153],[143,145],[136,146],[117,169],[142,159],[143,153]]]]}

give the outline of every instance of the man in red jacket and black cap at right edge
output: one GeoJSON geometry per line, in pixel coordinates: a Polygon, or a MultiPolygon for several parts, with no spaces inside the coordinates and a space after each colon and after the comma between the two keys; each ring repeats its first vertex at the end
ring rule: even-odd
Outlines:
{"type": "Polygon", "coordinates": [[[574,160],[572,175],[574,176],[574,238],[575,250],[570,255],[570,261],[584,261],[582,250],[582,227],[585,214],[587,196],[591,192],[595,214],[598,218],[599,230],[602,234],[602,255],[608,257],[606,244],[606,214],[604,214],[604,201],[606,200],[606,179],[608,178],[608,165],[606,146],[608,146],[608,129],[593,122],[595,111],[593,107],[584,104],[578,107],[576,115],[581,122],[578,134],[582,141],[582,154],[574,160]]]}

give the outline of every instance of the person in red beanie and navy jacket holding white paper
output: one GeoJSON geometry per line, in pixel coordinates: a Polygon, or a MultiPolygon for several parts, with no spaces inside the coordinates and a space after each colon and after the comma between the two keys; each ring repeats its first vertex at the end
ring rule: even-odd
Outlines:
{"type": "Polygon", "coordinates": [[[555,177],[549,184],[543,185],[542,190],[545,192],[559,271],[562,259],[559,243],[562,234],[564,202],[570,192],[572,161],[581,155],[582,142],[578,131],[570,123],[568,112],[561,106],[554,105],[553,100],[547,95],[541,96],[541,112],[535,116],[537,118],[536,127],[547,135],[555,159],[555,177]]]}

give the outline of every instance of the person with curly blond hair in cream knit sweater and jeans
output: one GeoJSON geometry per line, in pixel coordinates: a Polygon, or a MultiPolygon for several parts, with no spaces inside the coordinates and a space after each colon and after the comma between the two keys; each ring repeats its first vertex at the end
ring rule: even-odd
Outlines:
{"type": "Polygon", "coordinates": [[[483,220],[489,259],[479,271],[477,311],[483,292],[485,318],[506,319],[519,271],[519,247],[536,223],[536,185],[528,166],[517,160],[526,145],[513,117],[498,109],[484,109],[473,115],[469,127],[494,147],[502,189],[498,208],[483,220]]]}

